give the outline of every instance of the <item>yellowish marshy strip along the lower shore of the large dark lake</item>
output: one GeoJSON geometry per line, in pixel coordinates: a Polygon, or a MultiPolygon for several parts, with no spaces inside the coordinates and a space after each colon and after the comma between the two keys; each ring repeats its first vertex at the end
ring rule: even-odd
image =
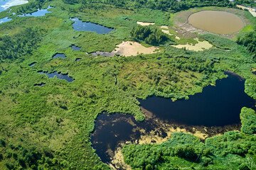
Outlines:
{"type": "MultiPolygon", "coordinates": [[[[176,123],[169,123],[165,120],[160,120],[156,116],[147,111],[145,108],[141,107],[142,113],[145,115],[145,123],[149,121],[151,125],[156,125],[150,132],[147,132],[145,128],[134,126],[132,129],[133,132],[140,133],[140,137],[131,136],[131,140],[120,142],[116,149],[112,151],[107,151],[107,154],[110,155],[111,161],[109,163],[112,169],[131,169],[131,166],[125,164],[124,155],[122,154],[122,148],[124,145],[130,144],[161,144],[171,139],[171,135],[174,132],[185,132],[196,137],[199,137],[201,140],[206,140],[207,137],[212,137],[215,135],[221,135],[224,132],[239,130],[240,125],[227,125],[225,127],[204,127],[204,126],[187,126],[187,125],[178,125],[176,123]]],[[[131,121],[131,120],[128,120],[131,121]]],[[[134,120],[132,120],[134,121],[134,120]]],[[[135,122],[134,122],[135,123],[135,122]]],[[[134,123],[130,123],[131,125],[134,123]]]]}

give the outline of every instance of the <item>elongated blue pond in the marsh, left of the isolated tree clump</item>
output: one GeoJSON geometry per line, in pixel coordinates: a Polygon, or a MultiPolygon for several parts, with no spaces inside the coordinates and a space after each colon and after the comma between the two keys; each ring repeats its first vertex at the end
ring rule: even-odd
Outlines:
{"type": "Polygon", "coordinates": [[[70,18],[72,21],[75,21],[73,23],[73,28],[75,30],[85,30],[85,31],[95,31],[98,34],[107,34],[110,33],[112,28],[107,28],[105,26],[100,26],[95,23],[87,23],[87,22],[82,22],[78,18],[70,18]]]}

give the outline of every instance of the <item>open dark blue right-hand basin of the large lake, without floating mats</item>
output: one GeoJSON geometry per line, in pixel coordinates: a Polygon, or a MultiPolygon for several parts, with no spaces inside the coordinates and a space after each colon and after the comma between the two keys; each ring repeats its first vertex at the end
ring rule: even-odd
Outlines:
{"type": "Polygon", "coordinates": [[[206,86],[202,93],[189,96],[189,100],[172,102],[153,96],[139,102],[161,119],[186,125],[223,126],[240,123],[241,108],[252,108],[255,100],[245,94],[244,79],[226,74],[228,78],[216,81],[216,86],[206,86]]]}

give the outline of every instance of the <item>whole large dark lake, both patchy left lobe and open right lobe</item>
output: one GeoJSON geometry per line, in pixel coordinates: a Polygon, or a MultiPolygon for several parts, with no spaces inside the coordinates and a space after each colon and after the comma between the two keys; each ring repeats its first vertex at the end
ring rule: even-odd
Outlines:
{"type": "MultiPolygon", "coordinates": [[[[102,162],[110,163],[115,149],[122,143],[138,143],[142,135],[152,130],[154,135],[164,138],[168,125],[174,129],[183,127],[192,133],[194,127],[207,128],[206,133],[211,135],[239,130],[241,108],[255,109],[255,100],[245,94],[244,79],[237,74],[226,74],[228,78],[217,80],[216,86],[206,86],[203,93],[189,96],[188,100],[173,102],[156,96],[139,100],[143,109],[153,113],[142,123],[134,120],[132,115],[99,115],[91,137],[92,147],[102,162]]],[[[155,142],[153,138],[150,140],[155,142]]]]}

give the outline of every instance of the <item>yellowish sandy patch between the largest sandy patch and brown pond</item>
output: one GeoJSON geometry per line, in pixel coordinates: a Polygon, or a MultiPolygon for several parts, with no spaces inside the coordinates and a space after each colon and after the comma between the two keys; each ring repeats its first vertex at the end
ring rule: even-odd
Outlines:
{"type": "MultiPolygon", "coordinates": [[[[198,41],[198,38],[195,38],[194,40],[198,41]]],[[[190,45],[190,44],[186,44],[186,45],[171,45],[173,47],[177,47],[177,48],[183,48],[186,47],[186,50],[193,50],[193,51],[203,51],[203,50],[208,50],[210,49],[210,47],[213,47],[213,45],[211,45],[208,41],[204,40],[204,41],[198,41],[198,43],[196,43],[195,45],[190,45]]]]}

